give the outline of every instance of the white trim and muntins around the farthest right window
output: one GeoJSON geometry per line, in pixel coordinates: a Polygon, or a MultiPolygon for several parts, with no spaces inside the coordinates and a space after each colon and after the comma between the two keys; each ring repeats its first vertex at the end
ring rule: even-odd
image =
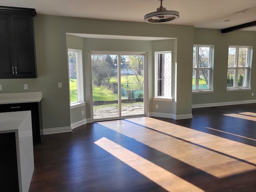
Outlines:
{"type": "Polygon", "coordinates": [[[251,84],[250,84],[250,80],[251,80],[251,68],[252,68],[252,46],[228,46],[228,48],[236,48],[236,67],[227,67],[230,69],[234,69],[235,72],[235,77],[234,77],[234,84],[237,85],[237,76],[238,76],[238,69],[239,68],[246,68],[247,69],[247,77],[246,77],[246,85],[247,86],[234,86],[234,87],[227,87],[226,88],[226,92],[229,91],[238,91],[238,90],[251,90],[251,84]],[[247,67],[238,67],[238,50],[239,48],[248,48],[248,53],[247,53],[247,67]]]}

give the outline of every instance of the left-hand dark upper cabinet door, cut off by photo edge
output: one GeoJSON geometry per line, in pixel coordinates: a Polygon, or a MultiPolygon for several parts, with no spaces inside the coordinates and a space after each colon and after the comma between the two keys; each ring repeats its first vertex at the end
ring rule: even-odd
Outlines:
{"type": "Polygon", "coordinates": [[[11,17],[7,14],[0,14],[0,76],[8,78],[14,76],[12,71],[11,58],[11,17]]]}

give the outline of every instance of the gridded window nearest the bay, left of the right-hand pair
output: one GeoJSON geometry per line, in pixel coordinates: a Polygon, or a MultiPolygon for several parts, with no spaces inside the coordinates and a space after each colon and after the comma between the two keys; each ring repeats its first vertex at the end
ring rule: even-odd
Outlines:
{"type": "Polygon", "coordinates": [[[192,91],[212,90],[213,46],[193,46],[192,91]]]}

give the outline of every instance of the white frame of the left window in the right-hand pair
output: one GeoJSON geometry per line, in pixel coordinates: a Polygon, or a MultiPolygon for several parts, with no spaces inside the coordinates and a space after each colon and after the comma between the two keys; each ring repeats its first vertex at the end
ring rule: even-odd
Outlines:
{"type": "MultiPolygon", "coordinates": [[[[202,45],[202,44],[194,44],[193,45],[193,49],[194,47],[196,47],[196,61],[195,61],[195,67],[193,66],[192,63],[192,74],[193,74],[193,70],[195,70],[195,89],[192,89],[192,93],[202,93],[202,92],[214,92],[213,90],[213,66],[214,66],[214,45],[202,45]],[[209,63],[208,63],[208,67],[199,67],[199,54],[198,54],[198,50],[200,47],[209,47],[209,63]],[[202,69],[208,69],[208,88],[207,89],[203,89],[203,88],[199,88],[199,70],[202,69]]],[[[193,50],[193,54],[194,54],[194,50],[193,50]]],[[[193,62],[194,62],[194,58],[193,58],[193,62]]],[[[192,76],[193,78],[193,76],[192,76]]]]}

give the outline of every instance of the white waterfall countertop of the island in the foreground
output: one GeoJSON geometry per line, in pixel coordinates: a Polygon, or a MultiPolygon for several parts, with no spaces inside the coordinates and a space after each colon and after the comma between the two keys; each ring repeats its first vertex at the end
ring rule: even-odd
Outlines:
{"type": "Polygon", "coordinates": [[[28,192],[34,172],[31,111],[0,113],[0,134],[8,132],[15,132],[19,188],[28,192]]]}

